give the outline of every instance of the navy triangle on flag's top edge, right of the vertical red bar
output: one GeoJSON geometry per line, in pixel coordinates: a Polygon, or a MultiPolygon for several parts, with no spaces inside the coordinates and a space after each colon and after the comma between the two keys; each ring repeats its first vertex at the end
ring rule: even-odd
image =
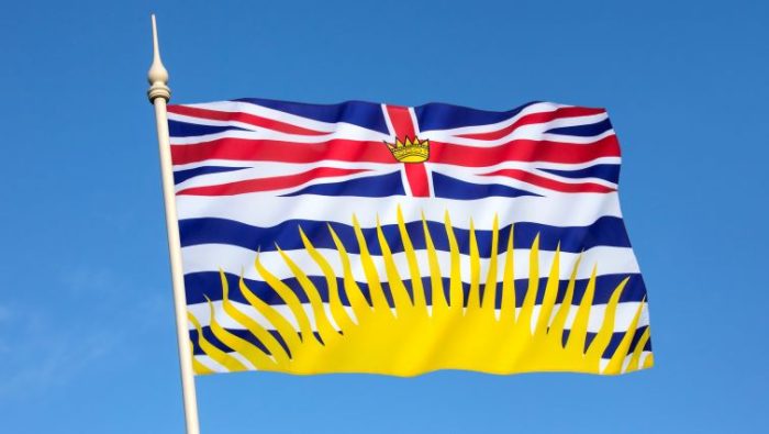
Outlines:
{"type": "Polygon", "coordinates": [[[487,111],[432,102],[415,107],[414,112],[416,113],[421,131],[448,130],[502,122],[519,114],[521,110],[534,103],[536,101],[509,111],[487,111]]]}

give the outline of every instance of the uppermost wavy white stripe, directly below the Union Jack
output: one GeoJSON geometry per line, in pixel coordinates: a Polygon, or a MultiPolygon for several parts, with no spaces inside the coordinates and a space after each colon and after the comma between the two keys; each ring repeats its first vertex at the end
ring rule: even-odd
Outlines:
{"type": "Polygon", "coordinates": [[[491,227],[494,213],[500,226],[517,222],[536,222],[553,226],[587,226],[601,216],[622,216],[617,193],[551,194],[547,198],[491,197],[477,200],[442,198],[344,198],[303,196],[293,198],[265,194],[227,197],[179,196],[176,198],[180,220],[220,218],[252,226],[275,226],[286,220],[315,219],[350,224],[357,214],[360,225],[375,227],[377,215],[382,224],[395,224],[395,209],[400,205],[405,221],[425,219],[443,222],[445,212],[455,227],[491,227]]]}

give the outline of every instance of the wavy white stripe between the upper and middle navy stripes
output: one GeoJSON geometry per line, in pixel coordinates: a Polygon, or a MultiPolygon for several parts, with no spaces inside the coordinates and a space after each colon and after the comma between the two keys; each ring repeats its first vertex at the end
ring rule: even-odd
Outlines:
{"type": "MultiPolygon", "coordinates": [[[[271,241],[266,241],[271,243],[271,241]]],[[[515,278],[523,279],[528,277],[530,272],[530,251],[523,248],[524,246],[516,246],[514,254],[515,263],[515,278]]],[[[528,246],[525,246],[528,247],[528,246]]],[[[323,257],[328,261],[334,274],[336,276],[344,276],[344,270],[342,267],[342,260],[338,253],[331,248],[319,248],[323,257]]],[[[297,263],[297,265],[304,271],[308,276],[323,276],[323,271],[317,266],[317,264],[310,257],[310,254],[304,249],[288,251],[289,257],[297,263]]],[[[430,276],[428,257],[426,251],[416,251],[416,258],[420,266],[420,272],[422,277],[430,276]]],[[[243,274],[243,277],[252,280],[264,279],[258,275],[254,266],[256,259],[256,252],[248,248],[229,245],[229,244],[199,244],[194,246],[187,246],[181,248],[183,270],[185,274],[200,272],[200,271],[216,271],[222,269],[225,272],[230,272],[236,276],[243,274]]],[[[364,266],[360,260],[360,255],[348,254],[350,268],[353,277],[357,281],[365,282],[366,272],[364,271],[364,266]]],[[[395,267],[405,278],[409,274],[409,263],[405,257],[404,252],[395,253],[392,255],[395,267]]],[[[450,269],[452,260],[448,252],[438,251],[436,256],[441,266],[441,270],[446,274],[450,269]]],[[[547,277],[550,271],[550,264],[555,256],[554,252],[540,251],[539,252],[539,276],[547,277]]],[[[571,270],[577,261],[580,254],[561,252],[560,253],[560,267],[559,267],[559,279],[568,279],[571,275],[571,270]]],[[[469,255],[459,255],[460,258],[460,277],[464,282],[470,281],[470,257],[469,255]]],[[[279,252],[261,252],[259,254],[259,260],[264,267],[270,271],[278,279],[288,279],[294,277],[291,269],[286,265],[279,252]]],[[[371,256],[371,260],[377,268],[378,275],[382,280],[387,280],[387,272],[384,269],[384,260],[381,256],[371,256]]],[[[503,264],[504,257],[498,259],[498,264],[503,264]]],[[[486,275],[488,270],[489,259],[480,259],[480,276],[482,280],[486,281],[486,275]]],[[[592,247],[582,253],[582,260],[580,263],[579,269],[577,270],[578,279],[587,279],[590,277],[592,267],[595,265],[598,267],[598,275],[615,275],[615,274],[637,274],[638,264],[633,255],[633,251],[629,247],[609,247],[599,246],[592,247]]],[[[501,281],[501,271],[498,270],[498,279],[495,281],[501,281]]]]}

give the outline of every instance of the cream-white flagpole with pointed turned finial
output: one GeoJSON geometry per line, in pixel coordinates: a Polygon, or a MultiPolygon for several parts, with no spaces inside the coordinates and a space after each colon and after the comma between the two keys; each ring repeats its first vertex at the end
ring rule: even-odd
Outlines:
{"type": "Polygon", "coordinates": [[[185,424],[187,434],[199,434],[198,402],[194,392],[194,372],[192,371],[192,349],[190,348],[187,325],[187,300],[181,270],[181,244],[176,213],[176,193],[174,191],[174,173],[171,169],[171,151],[168,140],[168,112],[166,103],[171,98],[168,88],[168,71],[160,62],[160,48],[157,43],[155,14],[153,21],[153,64],[147,73],[149,90],[147,97],[155,105],[157,124],[157,143],[160,151],[160,173],[163,176],[163,197],[166,203],[166,231],[168,233],[168,252],[171,263],[171,282],[174,287],[174,309],[176,312],[176,338],[179,346],[179,366],[181,368],[181,391],[185,400],[185,424]]]}

